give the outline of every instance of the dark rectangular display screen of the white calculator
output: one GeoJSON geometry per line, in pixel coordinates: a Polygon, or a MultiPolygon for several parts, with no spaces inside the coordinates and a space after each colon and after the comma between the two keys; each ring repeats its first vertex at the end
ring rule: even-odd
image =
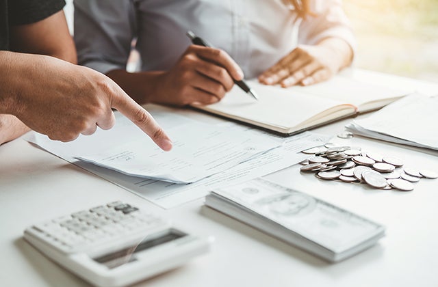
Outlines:
{"type": "Polygon", "coordinates": [[[187,234],[175,230],[169,229],[165,232],[159,232],[158,234],[152,234],[151,236],[146,236],[138,245],[133,245],[121,250],[114,251],[110,254],[105,254],[98,258],[93,258],[94,261],[104,264],[110,269],[122,266],[123,264],[136,261],[136,253],[150,249],[152,247],[168,243],[170,241],[175,241],[178,238],[187,236],[187,234]]]}

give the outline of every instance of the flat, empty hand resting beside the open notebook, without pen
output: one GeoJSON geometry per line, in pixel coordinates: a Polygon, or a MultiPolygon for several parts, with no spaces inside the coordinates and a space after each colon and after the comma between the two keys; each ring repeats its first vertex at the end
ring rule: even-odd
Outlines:
{"type": "Polygon", "coordinates": [[[274,66],[259,76],[266,85],[311,85],[325,81],[350,64],[352,51],[338,39],[322,41],[318,45],[300,45],[274,66]]]}

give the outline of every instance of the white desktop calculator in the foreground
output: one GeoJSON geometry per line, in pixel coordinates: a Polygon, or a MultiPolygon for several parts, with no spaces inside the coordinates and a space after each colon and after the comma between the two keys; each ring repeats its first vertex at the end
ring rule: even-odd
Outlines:
{"type": "Polygon", "coordinates": [[[206,253],[212,241],[123,202],[31,226],[24,237],[96,286],[125,286],[168,271],[206,253]]]}

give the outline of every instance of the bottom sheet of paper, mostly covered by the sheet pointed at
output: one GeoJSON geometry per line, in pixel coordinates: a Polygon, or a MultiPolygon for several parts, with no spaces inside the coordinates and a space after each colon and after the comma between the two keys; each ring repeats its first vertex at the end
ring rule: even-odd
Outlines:
{"type": "MultiPolygon", "coordinates": [[[[198,122],[190,120],[181,115],[177,115],[175,111],[168,111],[167,108],[154,106],[155,109],[149,109],[154,118],[159,122],[159,124],[168,131],[168,128],[172,126],[177,128],[178,126],[189,125],[192,128],[196,127],[198,122]],[[193,124],[193,125],[192,125],[193,124]]],[[[123,120],[123,115],[120,113],[116,114],[116,120],[118,126],[127,126],[133,128],[120,128],[118,133],[110,134],[103,133],[101,135],[92,135],[92,137],[99,136],[102,145],[105,145],[106,141],[134,141],[136,137],[144,137],[145,135],[136,128],[132,126],[129,122],[123,120]],[[137,130],[140,134],[137,133],[137,130]],[[133,136],[135,135],[135,136],[133,136]]],[[[86,148],[88,143],[84,141],[73,141],[72,143],[61,143],[59,141],[50,141],[47,137],[40,135],[38,133],[30,133],[27,137],[27,141],[36,143],[41,148],[60,156],[62,159],[74,163],[83,169],[101,176],[114,184],[117,184],[128,191],[136,193],[146,200],[161,206],[162,208],[172,208],[179,206],[186,202],[190,202],[201,198],[207,194],[209,189],[214,187],[224,187],[229,184],[236,184],[239,182],[244,182],[253,178],[260,176],[265,176],[276,172],[280,169],[294,165],[302,159],[307,157],[306,154],[297,154],[301,150],[311,148],[313,146],[320,146],[329,140],[328,136],[318,135],[316,133],[300,133],[293,137],[279,137],[272,135],[270,133],[265,133],[255,128],[249,128],[248,126],[242,126],[240,124],[235,124],[232,122],[226,122],[225,124],[212,124],[212,129],[219,128],[226,129],[229,131],[229,135],[238,135],[238,137],[249,138],[251,140],[259,140],[260,143],[263,142],[274,142],[273,146],[278,146],[263,152],[261,154],[251,156],[242,163],[235,165],[229,169],[224,169],[222,172],[218,172],[212,176],[198,180],[190,184],[175,184],[171,182],[164,182],[162,180],[154,180],[147,178],[140,178],[138,176],[129,176],[116,172],[112,169],[107,169],[88,163],[86,161],[79,161],[73,158],[73,154],[77,154],[77,151],[86,148]]],[[[110,130],[112,131],[112,130],[110,130]]],[[[110,132],[108,131],[108,132],[110,132]]],[[[211,131],[211,129],[210,129],[211,131]]],[[[100,131],[98,131],[100,133],[100,131]]],[[[92,137],[84,137],[86,139],[92,139],[92,137]]],[[[99,152],[101,150],[99,144],[94,145],[94,147],[89,147],[88,152],[99,152]]]]}

